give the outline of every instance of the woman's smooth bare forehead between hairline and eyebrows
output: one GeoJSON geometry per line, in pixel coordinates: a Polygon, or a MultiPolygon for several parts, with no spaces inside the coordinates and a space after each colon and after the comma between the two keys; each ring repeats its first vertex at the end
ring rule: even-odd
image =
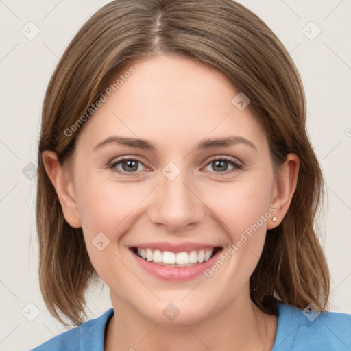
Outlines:
{"type": "Polygon", "coordinates": [[[201,62],[170,55],[134,60],[112,78],[110,90],[82,131],[91,145],[113,134],[152,138],[160,147],[229,135],[265,143],[250,110],[232,102],[240,92],[201,62]]]}

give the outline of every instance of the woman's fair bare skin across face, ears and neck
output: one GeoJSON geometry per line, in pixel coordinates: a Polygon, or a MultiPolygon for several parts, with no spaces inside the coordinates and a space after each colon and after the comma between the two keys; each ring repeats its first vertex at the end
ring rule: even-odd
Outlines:
{"type": "Polygon", "coordinates": [[[115,314],[105,350],[271,350],[278,320],[252,303],[249,279],[266,230],[278,226],[289,208],[298,156],[287,156],[278,184],[267,137],[250,108],[232,104],[239,91],[223,73],[162,55],[130,62],[119,75],[130,66],[136,73],[80,131],[69,167],[59,165],[54,152],[43,153],[64,217],[82,227],[90,260],[110,288],[115,314]],[[158,149],[110,143],[93,151],[112,135],[147,139],[158,149]],[[244,143],[195,149],[205,137],[225,136],[241,136],[256,149],[244,143]],[[108,167],[119,156],[139,156],[142,163],[131,176],[123,175],[116,171],[123,172],[121,163],[108,167]],[[226,163],[218,170],[214,156],[228,156],[242,167],[226,163]],[[180,170],[174,180],[162,173],[169,162],[180,170]],[[225,252],[272,206],[278,221],[267,219],[210,278],[160,280],[145,273],[128,249],[187,241],[225,252]],[[91,242],[99,232],[110,239],[102,251],[91,242]],[[169,303],[180,311],[173,321],[162,313],[169,303]]]}

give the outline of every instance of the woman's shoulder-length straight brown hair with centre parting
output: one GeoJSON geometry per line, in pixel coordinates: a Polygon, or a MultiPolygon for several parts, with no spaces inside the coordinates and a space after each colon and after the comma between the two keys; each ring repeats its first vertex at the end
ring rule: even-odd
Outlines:
{"type": "Polygon", "coordinates": [[[117,0],[101,8],[75,35],[54,71],[43,103],[38,148],[36,221],[40,289],[50,313],[64,323],[83,322],[84,293],[97,278],[82,228],[64,220],[42,160],[44,150],[64,165],[77,135],[67,136],[132,59],[169,53],[203,62],[226,74],[250,98],[263,126],[272,162],[300,157],[291,206],[267,232],[263,254],[250,278],[252,301],[276,313],[278,300],[324,310],[329,295],[326,259],[313,228],[323,195],[322,172],[306,135],[306,102],[300,75],[285,47],[250,10],[232,0],[117,0]]]}

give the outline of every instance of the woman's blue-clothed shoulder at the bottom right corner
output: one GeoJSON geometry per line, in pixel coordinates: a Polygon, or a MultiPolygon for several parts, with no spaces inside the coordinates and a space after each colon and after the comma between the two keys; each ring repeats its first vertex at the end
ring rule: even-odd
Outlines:
{"type": "Polygon", "coordinates": [[[351,350],[351,315],[318,311],[315,305],[278,305],[278,329],[272,351],[351,350]]]}

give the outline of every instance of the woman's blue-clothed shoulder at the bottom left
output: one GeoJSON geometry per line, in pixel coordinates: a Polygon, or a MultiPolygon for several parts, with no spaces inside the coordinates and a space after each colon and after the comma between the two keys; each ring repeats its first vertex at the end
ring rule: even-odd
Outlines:
{"type": "Polygon", "coordinates": [[[110,308],[100,317],[63,332],[31,351],[104,351],[104,334],[107,322],[113,315],[110,308]]]}

